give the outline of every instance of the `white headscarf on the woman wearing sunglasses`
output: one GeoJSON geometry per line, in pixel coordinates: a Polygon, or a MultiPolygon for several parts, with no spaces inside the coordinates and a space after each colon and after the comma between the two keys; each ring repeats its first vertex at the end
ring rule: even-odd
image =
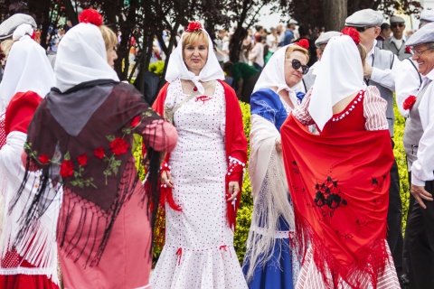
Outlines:
{"type": "Polygon", "coordinates": [[[278,93],[280,90],[285,89],[288,91],[288,95],[292,103],[297,104],[297,96],[294,88],[297,87],[301,79],[292,88],[288,87],[287,81],[285,80],[285,55],[287,53],[288,46],[291,45],[294,44],[283,46],[278,51],[274,52],[274,54],[270,57],[269,61],[267,62],[267,65],[265,66],[264,70],[260,72],[259,79],[256,82],[253,92],[259,89],[277,87],[278,90],[276,91],[276,93],[278,93]]]}

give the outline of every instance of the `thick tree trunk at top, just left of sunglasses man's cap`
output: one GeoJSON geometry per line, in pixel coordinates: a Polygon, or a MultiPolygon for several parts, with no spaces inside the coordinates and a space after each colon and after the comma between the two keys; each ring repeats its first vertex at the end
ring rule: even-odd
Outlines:
{"type": "Polygon", "coordinates": [[[341,31],[347,15],[347,0],[324,0],[325,31],[341,31]]]}

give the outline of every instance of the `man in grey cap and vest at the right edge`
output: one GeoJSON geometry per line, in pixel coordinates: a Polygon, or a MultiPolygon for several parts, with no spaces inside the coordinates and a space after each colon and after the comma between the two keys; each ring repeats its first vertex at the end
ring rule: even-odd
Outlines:
{"type": "MultiPolygon", "coordinates": [[[[410,192],[416,202],[410,213],[407,247],[411,288],[434,288],[434,23],[410,36],[420,74],[425,76],[415,102],[408,100],[409,121],[404,146],[412,147],[410,192]]],[[[406,150],[407,151],[407,150],[406,150]]],[[[409,156],[409,155],[408,155],[409,156]]]]}

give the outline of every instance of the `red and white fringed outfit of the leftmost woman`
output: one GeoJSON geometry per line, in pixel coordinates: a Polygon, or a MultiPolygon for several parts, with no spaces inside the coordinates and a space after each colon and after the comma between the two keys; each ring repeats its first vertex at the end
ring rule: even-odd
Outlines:
{"type": "Polygon", "coordinates": [[[35,222],[34,231],[24,234],[22,241],[12,247],[19,231],[19,220],[28,209],[33,196],[31,188],[38,186],[39,172],[30,172],[24,193],[8,211],[24,178],[22,153],[27,126],[42,98],[33,91],[16,93],[5,112],[5,145],[0,150],[0,194],[5,201],[0,243],[0,287],[50,289],[59,287],[57,275],[57,244],[55,228],[61,204],[61,194],[51,201],[42,217],[35,222]]]}

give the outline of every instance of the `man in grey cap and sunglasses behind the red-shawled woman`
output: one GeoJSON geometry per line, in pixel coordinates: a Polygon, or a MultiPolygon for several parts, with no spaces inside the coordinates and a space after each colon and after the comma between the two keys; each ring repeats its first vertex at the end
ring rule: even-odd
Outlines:
{"type": "MultiPolygon", "coordinates": [[[[394,74],[399,70],[401,62],[391,51],[381,50],[376,46],[377,36],[381,32],[383,16],[372,9],[363,9],[345,19],[345,26],[354,27],[360,33],[360,42],[368,51],[363,67],[366,85],[373,85],[380,90],[382,98],[387,101],[386,117],[389,132],[393,137],[395,116],[393,112],[393,91],[395,90],[394,74]]],[[[393,143],[392,143],[393,144],[393,143]]],[[[400,195],[400,177],[398,165],[393,162],[391,169],[391,187],[389,189],[389,210],[387,213],[387,242],[391,248],[393,262],[398,277],[402,271],[402,203],[400,195]]]]}

